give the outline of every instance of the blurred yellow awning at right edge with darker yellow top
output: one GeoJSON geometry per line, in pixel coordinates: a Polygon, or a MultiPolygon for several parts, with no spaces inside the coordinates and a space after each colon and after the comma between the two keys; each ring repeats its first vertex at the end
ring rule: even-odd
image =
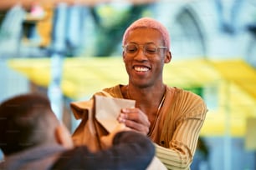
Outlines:
{"type": "Polygon", "coordinates": [[[212,61],[212,67],[222,77],[218,109],[208,112],[202,135],[244,136],[248,118],[256,117],[256,70],[239,59],[212,61]]]}

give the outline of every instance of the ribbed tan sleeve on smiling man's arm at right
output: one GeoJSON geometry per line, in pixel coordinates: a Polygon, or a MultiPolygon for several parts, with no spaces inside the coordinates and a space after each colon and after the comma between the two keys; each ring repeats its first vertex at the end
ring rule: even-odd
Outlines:
{"type": "Polygon", "coordinates": [[[183,107],[180,113],[182,116],[176,122],[175,131],[169,141],[169,147],[164,148],[155,144],[156,157],[168,169],[190,169],[192,158],[197,148],[199,133],[207,112],[207,107],[201,99],[198,100],[197,98],[195,100],[193,98],[193,102],[197,103],[187,103],[186,107],[183,107]]]}

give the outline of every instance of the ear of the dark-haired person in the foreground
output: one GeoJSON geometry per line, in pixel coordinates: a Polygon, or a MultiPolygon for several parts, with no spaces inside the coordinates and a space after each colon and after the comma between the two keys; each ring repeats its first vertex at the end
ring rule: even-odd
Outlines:
{"type": "Polygon", "coordinates": [[[56,128],[55,138],[60,145],[64,146],[64,148],[74,147],[71,134],[69,133],[68,128],[66,128],[63,124],[59,124],[59,126],[56,128]]]}

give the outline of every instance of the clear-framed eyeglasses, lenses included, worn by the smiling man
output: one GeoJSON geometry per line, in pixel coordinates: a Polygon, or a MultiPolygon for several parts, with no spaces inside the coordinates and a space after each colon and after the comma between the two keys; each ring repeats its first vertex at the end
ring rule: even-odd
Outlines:
{"type": "Polygon", "coordinates": [[[135,42],[130,42],[123,46],[123,48],[127,54],[136,55],[136,53],[139,52],[140,46],[143,46],[143,52],[146,56],[155,55],[159,49],[167,49],[167,47],[164,46],[157,47],[156,44],[153,42],[148,42],[145,44],[137,44],[135,42]]]}

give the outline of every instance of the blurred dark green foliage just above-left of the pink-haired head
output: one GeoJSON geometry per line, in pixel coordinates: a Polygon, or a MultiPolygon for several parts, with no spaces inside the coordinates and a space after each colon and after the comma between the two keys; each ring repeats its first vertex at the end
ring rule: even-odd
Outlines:
{"type": "Polygon", "coordinates": [[[92,7],[90,13],[95,20],[95,35],[97,35],[95,37],[97,47],[95,56],[106,57],[115,52],[117,45],[122,40],[125,28],[136,19],[141,18],[148,6],[149,4],[132,5],[125,10],[110,6],[92,7]]]}

